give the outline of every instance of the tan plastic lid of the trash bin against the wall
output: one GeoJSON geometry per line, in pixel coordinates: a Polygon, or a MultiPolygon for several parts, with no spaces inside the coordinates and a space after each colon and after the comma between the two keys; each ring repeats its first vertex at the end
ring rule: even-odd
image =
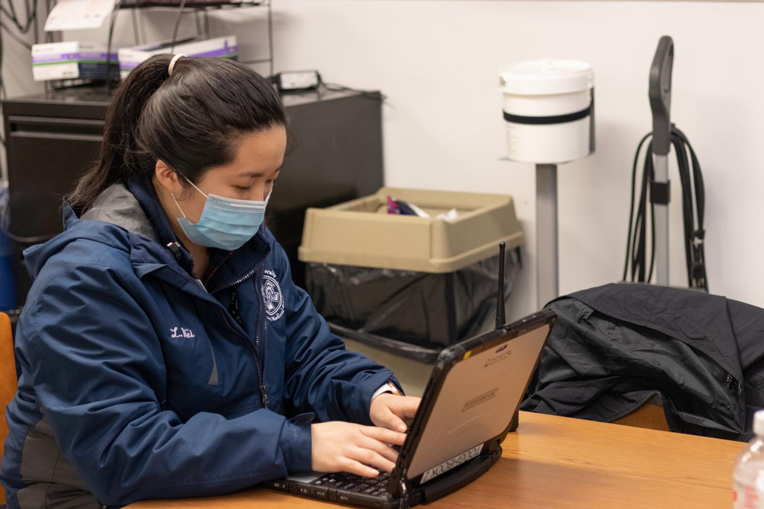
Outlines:
{"type": "Polygon", "coordinates": [[[308,263],[417,272],[455,272],[523,243],[509,195],[381,188],[329,208],[306,211],[299,259],[308,263]],[[387,214],[387,196],[418,205],[432,217],[387,214]],[[455,208],[448,221],[435,215],[455,208]]]}

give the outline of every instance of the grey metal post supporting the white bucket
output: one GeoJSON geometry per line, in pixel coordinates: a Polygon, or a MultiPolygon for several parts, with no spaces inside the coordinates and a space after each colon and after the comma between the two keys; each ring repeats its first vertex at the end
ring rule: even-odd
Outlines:
{"type": "Polygon", "coordinates": [[[536,288],[538,308],[558,298],[557,165],[536,165],[536,288]]]}

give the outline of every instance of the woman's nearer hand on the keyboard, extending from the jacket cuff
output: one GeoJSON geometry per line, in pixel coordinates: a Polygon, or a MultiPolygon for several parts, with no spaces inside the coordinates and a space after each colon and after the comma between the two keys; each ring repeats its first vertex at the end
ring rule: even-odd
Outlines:
{"type": "Polygon", "coordinates": [[[405,433],[336,420],[312,424],[310,436],[313,470],[350,472],[364,477],[377,477],[379,470],[391,472],[398,453],[387,444],[402,446],[406,440],[405,433]]]}

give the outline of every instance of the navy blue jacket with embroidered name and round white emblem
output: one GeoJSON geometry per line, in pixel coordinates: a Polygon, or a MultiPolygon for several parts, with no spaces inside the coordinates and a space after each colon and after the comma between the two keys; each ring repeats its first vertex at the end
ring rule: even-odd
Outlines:
{"type": "Polygon", "coordinates": [[[309,470],[312,414],[371,424],[392,379],[329,332],[267,228],[202,285],[140,191],[113,185],[82,218],[66,208],[64,233],[24,253],[35,279],[0,474],[11,509],[215,495],[309,470]]]}

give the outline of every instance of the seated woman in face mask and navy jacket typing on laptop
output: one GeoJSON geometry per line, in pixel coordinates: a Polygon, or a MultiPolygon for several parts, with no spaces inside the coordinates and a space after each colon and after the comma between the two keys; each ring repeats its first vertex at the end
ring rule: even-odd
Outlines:
{"type": "Polygon", "coordinates": [[[25,253],[8,507],[393,468],[419,399],[345,350],[262,224],[285,146],[280,98],[238,63],[154,56],[121,83],[64,233],[25,253]]]}

